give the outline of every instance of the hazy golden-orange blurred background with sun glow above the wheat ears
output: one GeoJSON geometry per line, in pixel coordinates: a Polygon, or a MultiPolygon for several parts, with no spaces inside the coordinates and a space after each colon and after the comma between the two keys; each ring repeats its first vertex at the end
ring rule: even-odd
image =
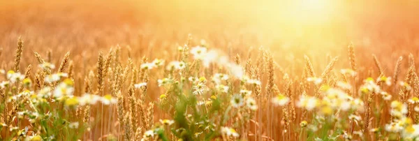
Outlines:
{"type": "Polygon", "coordinates": [[[0,1],[3,59],[10,59],[18,36],[27,50],[54,50],[53,57],[71,50],[76,61],[84,54],[84,61],[94,63],[92,50],[129,45],[131,55],[153,58],[156,51],[160,56],[176,50],[191,34],[195,45],[205,39],[234,54],[267,47],[279,61],[302,54],[322,61],[318,55],[346,54],[352,42],[358,56],[385,54],[379,59],[393,62],[400,55],[418,56],[418,25],[419,1],[413,0],[0,1]]]}

